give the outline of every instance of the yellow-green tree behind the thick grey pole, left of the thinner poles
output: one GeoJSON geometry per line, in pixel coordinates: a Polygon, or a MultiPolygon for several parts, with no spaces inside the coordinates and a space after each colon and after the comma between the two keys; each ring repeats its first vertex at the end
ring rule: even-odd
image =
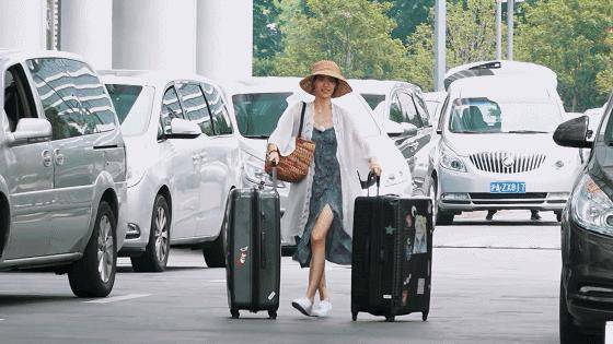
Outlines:
{"type": "MultiPolygon", "coordinates": [[[[496,49],[495,2],[458,0],[447,7],[447,67],[490,60],[496,49]]],[[[408,37],[407,78],[425,91],[433,86],[433,13],[408,37]]]]}

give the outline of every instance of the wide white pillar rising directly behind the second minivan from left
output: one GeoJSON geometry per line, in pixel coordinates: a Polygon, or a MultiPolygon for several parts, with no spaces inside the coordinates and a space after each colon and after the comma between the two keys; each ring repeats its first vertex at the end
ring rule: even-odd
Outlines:
{"type": "Polygon", "coordinates": [[[196,71],[196,0],[115,0],[113,68],[196,71]]]}

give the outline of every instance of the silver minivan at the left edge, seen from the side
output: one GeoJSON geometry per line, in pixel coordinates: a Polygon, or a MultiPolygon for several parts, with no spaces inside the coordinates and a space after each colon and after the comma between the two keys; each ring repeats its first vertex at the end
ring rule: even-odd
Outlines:
{"type": "Polygon", "coordinates": [[[80,57],[0,50],[0,269],[68,273],[80,297],[115,283],[126,162],[113,104],[80,57]]]}

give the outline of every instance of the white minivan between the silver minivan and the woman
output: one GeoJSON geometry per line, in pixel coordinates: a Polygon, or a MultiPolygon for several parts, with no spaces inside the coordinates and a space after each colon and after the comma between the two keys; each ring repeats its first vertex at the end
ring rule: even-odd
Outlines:
{"type": "Polygon", "coordinates": [[[219,87],[193,74],[102,71],[126,140],[127,235],[119,256],[163,271],[171,245],[201,248],[225,265],[222,224],[239,185],[234,126],[219,87]]]}

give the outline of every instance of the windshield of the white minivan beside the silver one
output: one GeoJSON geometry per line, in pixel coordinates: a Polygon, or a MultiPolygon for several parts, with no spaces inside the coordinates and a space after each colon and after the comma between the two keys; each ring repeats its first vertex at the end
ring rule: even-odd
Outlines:
{"type": "Polygon", "coordinates": [[[106,84],[124,135],[138,135],[147,130],[151,117],[153,87],[106,84]]]}

